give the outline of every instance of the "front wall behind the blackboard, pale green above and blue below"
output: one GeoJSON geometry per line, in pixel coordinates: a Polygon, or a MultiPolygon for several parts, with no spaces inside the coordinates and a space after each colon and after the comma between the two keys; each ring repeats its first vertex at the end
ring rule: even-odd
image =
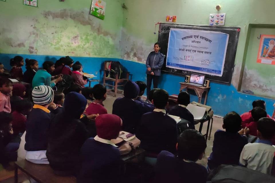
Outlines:
{"type": "MultiPolygon", "coordinates": [[[[210,83],[211,89],[207,99],[207,105],[212,106],[214,114],[224,116],[229,111],[243,113],[252,108],[252,102],[256,99],[263,99],[267,102],[267,112],[272,115],[274,107],[273,99],[263,98],[243,94],[237,91],[240,84],[240,74],[243,63],[243,55],[246,44],[248,25],[254,24],[274,24],[273,12],[275,7],[274,0],[125,0],[128,10],[124,11],[123,29],[121,33],[121,52],[123,59],[138,63],[145,63],[153,45],[158,40],[158,25],[155,23],[165,22],[166,15],[176,15],[179,24],[208,25],[209,14],[217,13],[216,5],[221,5],[220,13],[226,13],[225,26],[240,27],[239,42],[237,47],[235,68],[231,85],[210,83]],[[156,34],[154,34],[156,32],[156,34]]],[[[250,62],[256,65],[256,57],[250,57],[250,62]],[[253,59],[253,60],[252,60],[253,59]]],[[[247,63],[249,63],[247,61],[247,63]]],[[[268,65],[270,70],[273,65],[268,65]]],[[[245,85],[250,85],[254,77],[254,89],[260,92],[267,83],[274,87],[274,74],[272,78],[266,77],[266,69],[263,67],[251,67],[244,65],[246,73],[250,73],[250,80],[245,81],[245,85]],[[248,71],[248,72],[247,72],[248,71]],[[272,81],[271,81],[272,80],[272,81]],[[265,81],[265,83],[260,83],[265,81]]],[[[137,67],[133,70],[139,69],[137,67]]],[[[145,65],[140,68],[144,74],[145,65]]],[[[246,75],[244,76],[246,77],[246,75]]],[[[146,81],[146,76],[142,75],[146,81]]],[[[160,87],[166,89],[169,94],[177,94],[179,89],[178,82],[183,81],[183,77],[164,73],[161,78],[160,87]]],[[[271,91],[271,90],[270,90],[271,91]]],[[[272,92],[272,91],[271,91],[272,92]]],[[[195,93],[191,92],[191,100],[196,101],[195,93]]],[[[264,96],[264,95],[262,95],[264,96]]],[[[273,96],[272,96],[273,97],[273,96]]],[[[273,97],[274,98],[274,97],[273,97]]]]}

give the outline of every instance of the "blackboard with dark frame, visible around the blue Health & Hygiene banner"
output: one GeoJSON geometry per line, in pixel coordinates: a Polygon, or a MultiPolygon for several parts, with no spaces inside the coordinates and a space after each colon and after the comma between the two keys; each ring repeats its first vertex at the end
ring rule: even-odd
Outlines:
{"type": "MultiPolygon", "coordinates": [[[[235,56],[237,51],[237,45],[239,40],[239,27],[215,27],[215,26],[199,26],[199,25],[182,25],[182,24],[171,24],[171,23],[160,23],[159,32],[158,32],[158,42],[160,43],[161,50],[160,52],[164,55],[167,55],[167,47],[168,47],[168,39],[170,28],[178,28],[178,29],[197,29],[197,30],[206,30],[206,31],[216,31],[223,32],[229,34],[227,51],[225,55],[225,63],[223,67],[223,75],[222,76],[214,76],[214,75],[205,75],[205,79],[209,79],[216,83],[222,83],[230,85],[235,56]]],[[[168,72],[177,75],[190,75],[191,71],[180,70],[180,69],[172,69],[166,67],[166,57],[164,59],[164,64],[161,69],[163,72],[168,72]]],[[[192,72],[194,73],[194,72],[192,72]]]]}

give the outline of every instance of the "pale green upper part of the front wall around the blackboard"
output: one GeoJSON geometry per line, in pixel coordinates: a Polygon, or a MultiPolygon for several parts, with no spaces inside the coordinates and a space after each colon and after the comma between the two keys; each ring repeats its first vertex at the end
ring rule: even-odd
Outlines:
{"type": "MultiPolygon", "coordinates": [[[[274,0],[125,0],[125,5],[128,10],[124,10],[121,52],[124,59],[143,63],[158,39],[155,23],[165,22],[166,15],[176,15],[179,24],[208,25],[209,14],[217,13],[215,7],[221,5],[220,13],[226,13],[225,26],[241,27],[232,78],[235,88],[239,85],[248,25],[274,24],[274,0]]],[[[256,57],[250,57],[250,61],[253,68],[251,64],[246,68],[254,70],[252,77],[262,77],[256,82],[269,81],[264,67],[256,65],[256,57]]]]}

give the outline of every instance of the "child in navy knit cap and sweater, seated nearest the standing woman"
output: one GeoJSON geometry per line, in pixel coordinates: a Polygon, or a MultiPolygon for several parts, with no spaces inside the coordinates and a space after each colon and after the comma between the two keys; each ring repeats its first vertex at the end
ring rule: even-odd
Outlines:
{"type": "Polygon", "coordinates": [[[127,81],[124,86],[124,97],[117,98],[113,104],[113,114],[123,121],[122,129],[132,134],[135,133],[142,114],[154,110],[154,106],[135,100],[139,93],[137,83],[127,81]]]}

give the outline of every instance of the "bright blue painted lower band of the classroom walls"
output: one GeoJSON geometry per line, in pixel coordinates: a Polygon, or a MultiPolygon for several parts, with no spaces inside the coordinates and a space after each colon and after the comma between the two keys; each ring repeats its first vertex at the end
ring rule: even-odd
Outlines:
{"type": "MultiPolygon", "coordinates": [[[[10,69],[9,60],[13,58],[14,54],[0,54],[0,62],[5,65],[7,69],[10,69]]],[[[55,62],[61,56],[48,56],[48,55],[21,55],[22,57],[29,59],[36,59],[39,62],[39,66],[46,60],[55,62]]],[[[130,77],[133,81],[144,81],[146,83],[146,67],[145,64],[137,63],[133,61],[127,61],[123,59],[113,58],[97,58],[97,57],[72,57],[74,61],[80,61],[83,65],[83,70],[87,73],[93,73],[101,80],[103,72],[103,62],[106,60],[120,61],[120,63],[127,68],[132,74],[130,77]]],[[[23,71],[25,71],[25,68],[23,71]]],[[[159,87],[166,89],[169,94],[178,94],[180,84],[184,81],[182,76],[163,73],[160,77],[159,87]]],[[[95,83],[96,84],[96,83],[95,83]]],[[[233,85],[222,85],[218,83],[210,83],[211,89],[207,98],[207,105],[212,106],[215,115],[224,116],[230,111],[236,111],[239,114],[247,112],[252,109],[252,102],[254,100],[262,99],[266,101],[266,112],[272,115],[274,107],[274,100],[268,98],[262,98],[258,96],[246,95],[237,92],[237,89],[233,85]]],[[[197,101],[195,92],[190,91],[191,101],[197,101]]],[[[203,101],[204,99],[202,99],[203,101]]]]}

